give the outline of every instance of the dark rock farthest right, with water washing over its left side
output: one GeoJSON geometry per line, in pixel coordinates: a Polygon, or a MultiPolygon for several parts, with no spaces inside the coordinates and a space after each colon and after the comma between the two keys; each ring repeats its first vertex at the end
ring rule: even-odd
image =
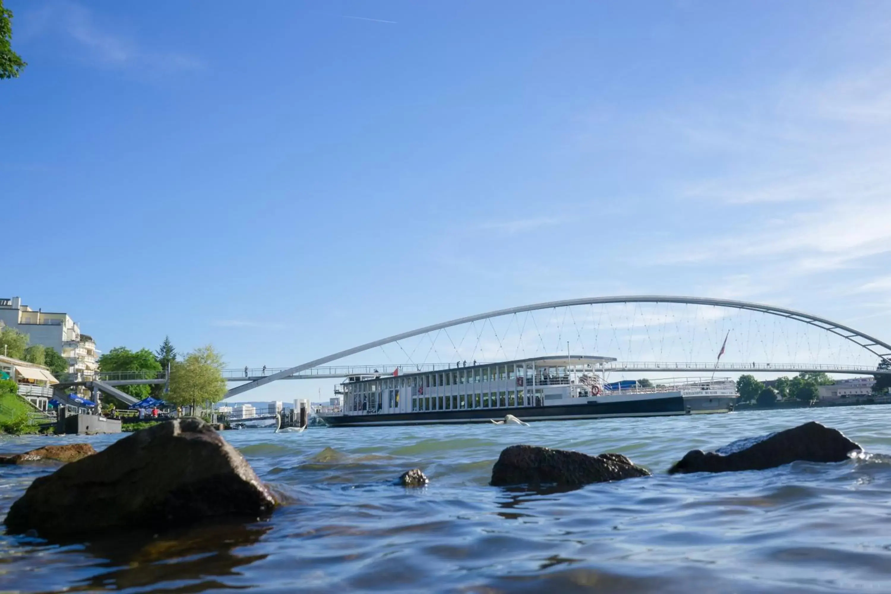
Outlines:
{"type": "Polygon", "coordinates": [[[841,462],[854,450],[862,448],[841,431],[811,421],[770,435],[740,439],[715,452],[692,450],[675,462],[668,474],[764,470],[796,460],[841,462]]]}

